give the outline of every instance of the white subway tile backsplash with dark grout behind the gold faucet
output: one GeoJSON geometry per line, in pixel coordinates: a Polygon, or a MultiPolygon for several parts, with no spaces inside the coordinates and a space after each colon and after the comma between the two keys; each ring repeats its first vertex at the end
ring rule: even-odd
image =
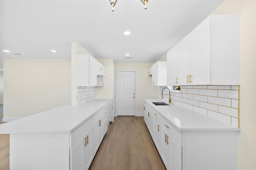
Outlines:
{"type": "Polygon", "coordinates": [[[238,127],[238,94],[238,86],[181,86],[171,98],[173,104],[238,127]]]}

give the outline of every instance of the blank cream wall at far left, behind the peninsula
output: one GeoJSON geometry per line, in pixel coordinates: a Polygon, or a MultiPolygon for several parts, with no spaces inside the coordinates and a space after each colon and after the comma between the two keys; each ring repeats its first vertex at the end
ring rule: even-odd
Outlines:
{"type": "Polygon", "coordinates": [[[4,118],[70,104],[70,59],[4,59],[4,118]]]}

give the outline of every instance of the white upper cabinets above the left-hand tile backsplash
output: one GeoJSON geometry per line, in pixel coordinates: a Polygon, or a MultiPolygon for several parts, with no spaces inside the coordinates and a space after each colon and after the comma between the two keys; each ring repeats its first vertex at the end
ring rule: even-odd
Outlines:
{"type": "Polygon", "coordinates": [[[104,86],[105,67],[91,55],[76,56],[77,86],[104,86]],[[97,75],[100,75],[97,77],[97,75]]]}

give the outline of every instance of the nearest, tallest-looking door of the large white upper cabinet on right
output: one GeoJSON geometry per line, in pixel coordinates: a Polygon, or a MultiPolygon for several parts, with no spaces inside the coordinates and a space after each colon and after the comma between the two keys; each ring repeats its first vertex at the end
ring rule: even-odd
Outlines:
{"type": "Polygon", "coordinates": [[[192,31],[192,62],[192,84],[211,84],[210,17],[192,31]]]}

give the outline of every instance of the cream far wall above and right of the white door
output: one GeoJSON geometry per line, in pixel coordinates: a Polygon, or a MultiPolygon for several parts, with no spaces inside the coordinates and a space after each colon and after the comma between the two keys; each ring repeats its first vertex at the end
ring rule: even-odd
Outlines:
{"type": "Polygon", "coordinates": [[[144,112],[144,98],[156,98],[159,93],[157,86],[152,86],[152,77],[148,76],[148,68],[154,63],[115,63],[116,70],[137,70],[137,113],[144,112]]]}

